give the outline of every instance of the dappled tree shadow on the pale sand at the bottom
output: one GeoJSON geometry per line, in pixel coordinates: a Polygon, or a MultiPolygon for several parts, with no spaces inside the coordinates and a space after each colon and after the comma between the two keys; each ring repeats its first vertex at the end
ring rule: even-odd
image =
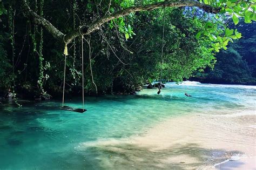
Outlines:
{"type": "Polygon", "coordinates": [[[193,143],[156,149],[127,143],[97,145],[96,142],[95,146],[86,147],[79,154],[86,157],[86,152],[91,154],[86,166],[90,167],[88,163],[94,162],[91,167],[97,169],[205,169],[231,155],[241,154],[239,151],[207,149],[193,143]]]}

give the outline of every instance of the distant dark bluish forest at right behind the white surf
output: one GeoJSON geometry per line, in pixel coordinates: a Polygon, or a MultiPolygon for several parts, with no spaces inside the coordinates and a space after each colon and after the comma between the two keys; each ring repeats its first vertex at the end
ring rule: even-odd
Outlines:
{"type": "Polygon", "coordinates": [[[216,55],[214,69],[197,72],[192,80],[203,83],[256,84],[256,23],[239,22],[232,28],[242,33],[242,38],[230,44],[227,50],[216,55]]]}

